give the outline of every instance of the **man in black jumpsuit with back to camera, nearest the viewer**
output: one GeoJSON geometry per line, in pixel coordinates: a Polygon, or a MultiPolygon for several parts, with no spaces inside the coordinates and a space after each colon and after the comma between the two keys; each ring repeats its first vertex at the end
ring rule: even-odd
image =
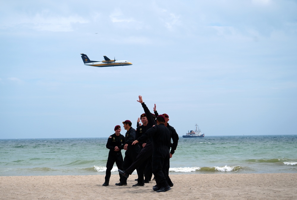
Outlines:
{"type": "Polygon", "coordinates": [[[146,141],[152,138],[153,141],[153,157],[152,170],[156,178],[156,183],[160,188],[153,188],[157,192],[166,192],[170,190],[170,186],[166,181],[166,167],[170,158],[170,142],[171,131],[164,125],[165,117],[159,115],[157,117],[157,125],[146,131],[141,137],[135,140],[132,145],[146,141]]]}

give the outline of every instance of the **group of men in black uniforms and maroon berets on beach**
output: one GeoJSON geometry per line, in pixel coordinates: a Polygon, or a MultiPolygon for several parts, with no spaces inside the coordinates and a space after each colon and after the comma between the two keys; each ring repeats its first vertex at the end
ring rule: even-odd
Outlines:
{"type": "Polygon", "coordinates": [[[116,162],[120,177],[120,182],[116,183],[116,186],[127,185],[127,178],[136,169],[138,179],[137,184],[133,185],[133,187],[144,186],[145,183],[149,183],[152,174],[154,174],[156,185],[153,190],[165,192],[173,186],[168,175],[169,159],[176,150],[178,134],[168,124],[168,114],[159,115],[156,104],[154,106],[155,114],[152,114],[144,104],[142,96],[138,96],[138,98],[137,101],[141,103],[144,109],[144,113],[140,115],[142,125],[135,130],[132,128],[132,122],[125,120],[122,122],[124,129],[127,130],[125,136],[120,134],[121,126],[115,126],[115,133],[108,138],[106,144],[106,148],[110,149],[110,151],[103,186],[109,185],[111,170],[116,162]],[[125,150],[124,160],[121,149],[125,150]]]}

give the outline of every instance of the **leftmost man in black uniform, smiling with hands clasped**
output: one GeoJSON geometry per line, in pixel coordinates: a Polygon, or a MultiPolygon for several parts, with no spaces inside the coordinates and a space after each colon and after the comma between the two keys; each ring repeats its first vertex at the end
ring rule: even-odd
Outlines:
{"type": "MultiPolygon", "coordinates": [[[[106,148],[109,149],[108,153],[108,159],[106,163],[106,175],[105,175],[105,182],[102,184],[102,186],[108,186],[109,185],[109,179],[111,175],[111,170],[113,168],[113,164],[116,163],[116,166],[118,169],[123,169],[123,156],[121,153],[121,149],[118,148],[118,146],[121,146],[123,143],[125,143],[125,137],[121,135],[121,126],[116,125],[115,133],[111,136],[109,136],[106,148]]],[[[122,175],[120,175],[120,181],[122,175]]]]}

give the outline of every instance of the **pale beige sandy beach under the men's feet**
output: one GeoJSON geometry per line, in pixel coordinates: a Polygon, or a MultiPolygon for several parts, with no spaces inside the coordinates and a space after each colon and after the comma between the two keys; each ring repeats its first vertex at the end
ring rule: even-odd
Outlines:
{"type": "Polygon", "coordinates": [[[167,192],[152,190],[155,181],[132,187],[116,186],[119,175],[0,176],[0,199],[297,199],[297,173],[170,175],[167,192]]]}

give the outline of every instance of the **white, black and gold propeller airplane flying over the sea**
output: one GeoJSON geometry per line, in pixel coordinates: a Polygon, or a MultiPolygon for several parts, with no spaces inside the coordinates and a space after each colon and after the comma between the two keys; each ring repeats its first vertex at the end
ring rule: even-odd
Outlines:
{"type": "Polygon", "coordinates": [[[103,56],[105,60],[100,61],[92,61],[88,58],[86,54],[80,54],[81,58],[83,59],[83,63],[85,65],[94,66],[94,67],[111,67],[111,66],[125,66],[125,65],[132,65],[131,62],[127,60],[119,60],[116,59],[110,60],[108,57],[103,56]]]}

